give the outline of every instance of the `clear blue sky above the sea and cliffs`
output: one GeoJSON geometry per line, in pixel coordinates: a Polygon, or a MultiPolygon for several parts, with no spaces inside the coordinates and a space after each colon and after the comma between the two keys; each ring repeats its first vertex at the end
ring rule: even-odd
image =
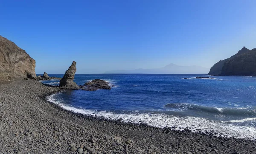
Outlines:
{"type": "Polygon", "coordinates": [[[256,0],[5,0],[0,35],[36,60],[36,73],[212,67],[256,48],[256,0]]]}

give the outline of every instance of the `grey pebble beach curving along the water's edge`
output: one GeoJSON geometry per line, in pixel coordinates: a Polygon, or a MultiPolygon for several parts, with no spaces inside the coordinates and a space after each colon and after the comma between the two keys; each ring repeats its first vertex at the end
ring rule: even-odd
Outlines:
{"type": "Polygon", "coordinates": [[[74,114],[45,101],[58,87],[0,84],[0,154],[256,154],[256,141],[74,114]]]}

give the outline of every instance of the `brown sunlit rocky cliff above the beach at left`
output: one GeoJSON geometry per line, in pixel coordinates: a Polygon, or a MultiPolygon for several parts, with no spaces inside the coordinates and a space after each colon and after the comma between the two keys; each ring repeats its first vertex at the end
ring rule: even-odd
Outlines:
{"type": "Polygon", "coordinates": [[[35,75],[35,60],[14,42],[0,36],[0,80],[35,75]]]}

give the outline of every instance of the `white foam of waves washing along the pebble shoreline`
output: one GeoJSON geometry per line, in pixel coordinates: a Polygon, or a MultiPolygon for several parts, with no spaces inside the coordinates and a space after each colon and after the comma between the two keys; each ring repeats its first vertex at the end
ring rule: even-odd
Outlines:
{"type": "Polygon", "coordinates": [[[215,121],[207,120],[205,118],[198,117],[176,117],[166,114],[149,114],[149,113],[134,113],[134,114],[115,114],[113,112],[106,111],[94,111],[90,109],[78,109],[73,106],[68,106],[62,103],[62,101],[56,100],[53,94],[47,97],[47,100],[58,104],[64,109],[81,113],[85,115],[95,115],[104,117],[106,119],[111,118],[113,120],[122,119],[123,122],[132,123],[145,123],[150,126],[156,126],[159,128],[164,127],[177,127],[177,130],[183,130],[182,128],[190,129],[193,132],[198,132],[201,129],[202,132],[214,132],[216,136],[224,137],[237,137],[247,138],[256,136],[256,128],[252,126],[239,126],[236,123],[244,121],[255,121],[256,118],[247,118],[243,120],[230,120],[230,121],[215,121]]]}

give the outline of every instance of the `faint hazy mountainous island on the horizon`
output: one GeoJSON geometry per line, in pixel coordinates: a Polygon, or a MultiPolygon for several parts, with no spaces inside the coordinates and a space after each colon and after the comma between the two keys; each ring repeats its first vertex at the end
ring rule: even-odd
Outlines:
{"type": "Polygon", "coordinates": [[[107,71],[105,73],[108,74],[203,74],[207,73],[209,68],[201,67],[201,66],[179,66],[176,64],[168,64],[162,68],[155,69],[135,69],[135,70],[112,70],[107,71]]]}

